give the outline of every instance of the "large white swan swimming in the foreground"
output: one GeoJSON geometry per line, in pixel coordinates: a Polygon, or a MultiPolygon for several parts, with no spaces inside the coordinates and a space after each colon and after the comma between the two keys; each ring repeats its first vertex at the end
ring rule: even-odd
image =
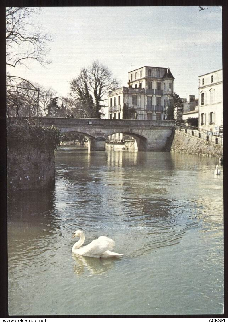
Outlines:
{"type": "Polygon", "coordinates": [[[80,239],[72,247],[72,252],[74,254],[95,258],[110,258],[122,256],[122,254],[117,254],[110,251],[115,246],[115,241],[103,235],[90,242],[89,245],[85,245],[82,248],[80,247],[85,241],[84,233],[81,230],[77,230],[74,232],[72,238],[74,237],[80,237],[80,239]]]}

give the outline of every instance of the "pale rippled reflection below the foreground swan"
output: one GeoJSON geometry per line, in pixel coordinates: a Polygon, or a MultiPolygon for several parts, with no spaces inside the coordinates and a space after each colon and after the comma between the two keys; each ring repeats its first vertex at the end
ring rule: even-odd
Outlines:
{"type": "MultiPolygon", "coordinates": [[[[114,266],[114,260],[110,258],[92,258],[84,257],[81,255],[72,254],[72,258],[75,260],[74,273],[79,277],[83,274],[84,268],[86,268],[90,275],[102,275],[114,266]]],[[[118,261],[116,259],[115,261],[118,261]]]]}

